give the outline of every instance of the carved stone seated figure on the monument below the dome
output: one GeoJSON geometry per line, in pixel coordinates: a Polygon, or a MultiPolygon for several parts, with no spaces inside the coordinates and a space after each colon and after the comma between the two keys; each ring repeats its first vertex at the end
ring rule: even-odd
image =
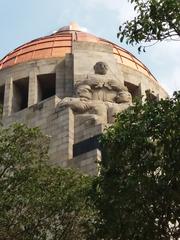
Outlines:
{"type": "Polygon", "coordinates": [[[106,76],[108,65],[97,62],[93,75],[75,84],[75,96],[66,97],[58,108],[70,107],[77,114],[88,114],[102,123],[113,122],[114,115],[132,103],[131,94],[117,79],[106,76]]]}

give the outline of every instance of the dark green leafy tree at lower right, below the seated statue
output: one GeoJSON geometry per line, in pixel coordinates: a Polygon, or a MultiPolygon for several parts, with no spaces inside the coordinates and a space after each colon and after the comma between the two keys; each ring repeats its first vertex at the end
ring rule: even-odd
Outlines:
{"type": "Polygon", "coordinates": [[[101,142],[97,239],[179,239],[180,92],[119,113],[101,142]]]}

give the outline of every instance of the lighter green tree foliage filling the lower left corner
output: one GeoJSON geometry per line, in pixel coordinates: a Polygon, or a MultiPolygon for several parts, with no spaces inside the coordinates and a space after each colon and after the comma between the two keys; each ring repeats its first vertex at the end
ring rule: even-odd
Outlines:
{"type": "Polygon", "coordinates": [[[91,178],[49,166],[48,142],[37,128],[0,128],[0,240],[86,239],[91,178]]]}

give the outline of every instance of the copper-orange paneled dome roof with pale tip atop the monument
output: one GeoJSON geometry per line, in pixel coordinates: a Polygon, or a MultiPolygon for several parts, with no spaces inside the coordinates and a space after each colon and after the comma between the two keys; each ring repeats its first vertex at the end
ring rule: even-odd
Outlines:
{"type": "Polygon", "coordinates": [[[75,23],[60,28],[51,35],[37,38],[16,48],[0,60],[0,70],[32,60],[64,57],[66,53],[72,53],[73,41],[110,45],[113,47],[113,53],[118,63],[136,69],[151,79],[156,80],[149,69],[130,52],[110,41],[81,31],[81,28],[75,23]]]}

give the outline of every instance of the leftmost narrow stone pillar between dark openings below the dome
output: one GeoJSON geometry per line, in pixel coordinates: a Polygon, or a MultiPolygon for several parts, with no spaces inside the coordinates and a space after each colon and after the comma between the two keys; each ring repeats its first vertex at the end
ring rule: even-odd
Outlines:
{"type": "Polygon", "coordinates": [[[13,101],[13,78],[10,77],[5,83],[3,117],[7,117],[12,112],[13,101]]]}

